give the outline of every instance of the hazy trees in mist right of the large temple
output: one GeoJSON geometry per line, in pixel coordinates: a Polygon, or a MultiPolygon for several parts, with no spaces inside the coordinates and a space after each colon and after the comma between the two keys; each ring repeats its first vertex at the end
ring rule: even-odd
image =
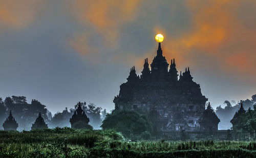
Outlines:
{"type": "Polygon", "coordinates": [[[221,105],[216,108],[216,115],[221,120],[219,129],[230,129],[232,127],[230,120],[233,118],[236,111],[239,110],[241,103],[245,110],[253,108],[253,105],[256,104],[256,94],[253,95],[251,99],[240,100],[238,103],[231,101],[233,106],[230,101],[226,100],[224,103],[226,104],[224,108],[222,108],[221,105]]]}

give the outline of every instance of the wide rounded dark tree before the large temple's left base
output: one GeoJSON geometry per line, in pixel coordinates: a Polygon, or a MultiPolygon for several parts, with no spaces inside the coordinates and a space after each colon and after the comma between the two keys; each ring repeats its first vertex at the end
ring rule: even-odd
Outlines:
{"type": "Polygon", "coordinates": [[[152,123],[144,116],[133,110],[121,110],[106,115],[100,126],[103,129],[116,129],[126,137],[130,134],[141,134],[152,131],[152,123]]]}

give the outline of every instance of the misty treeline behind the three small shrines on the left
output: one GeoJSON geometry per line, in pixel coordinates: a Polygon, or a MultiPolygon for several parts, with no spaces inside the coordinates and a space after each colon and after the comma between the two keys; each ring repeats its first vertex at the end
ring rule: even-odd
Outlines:
{"type": "MultiPolygon", "coordinates": [[[[97,107],[93,103],[87,105],[86,102],[82,103],[82,108],[90,119],[89,124],[94,129],[99,129],[102,120],[107,114],[106,110],[102,110],[101,107],[97,107]]],[[[31,103],[28,103],[24,96],[6,97],[5,100],[0,98],[0,129],[3,129],[2,125],[8,117],[10,110],[12,110],[12,115],[18,123],[17,130],[30,130],[35,119],[38,117],[38,112],[41,112],[41,116],[49,128],[71,127],[69,119],[74,112],[74,108],[68,110],[66,107],[62,112],[57,112],[52,116],[46,105],[41,104],[38,100],[33,99],[31,103]]]]}

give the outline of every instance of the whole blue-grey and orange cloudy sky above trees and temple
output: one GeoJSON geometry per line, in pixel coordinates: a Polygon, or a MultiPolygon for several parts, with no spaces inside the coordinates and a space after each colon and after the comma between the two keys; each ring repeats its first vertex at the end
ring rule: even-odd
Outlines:
{"type": "Polygon", "coordinates": [[[108,111],[130,67],[164,35],[167,61],[190,67],[213,107],[256,94],[256,1],[0,0],[0,96],[53,113],[78,101],[108,111]]]}

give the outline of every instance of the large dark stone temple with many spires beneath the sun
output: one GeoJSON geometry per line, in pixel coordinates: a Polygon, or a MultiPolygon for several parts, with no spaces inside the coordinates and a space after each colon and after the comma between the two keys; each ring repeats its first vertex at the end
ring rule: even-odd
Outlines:
{"type": "Polygon", "coordinates": [[[175,59],[168,64],[160,43],[150,66],[145,59],[141,76],[132,67],[127,82],[120,85],[119,95],[114,98],[115,109],[147,115],[157,131],[202,129],[199,119],[208,99],[193,81],[189,67],[178,75],[175,59]]]}

